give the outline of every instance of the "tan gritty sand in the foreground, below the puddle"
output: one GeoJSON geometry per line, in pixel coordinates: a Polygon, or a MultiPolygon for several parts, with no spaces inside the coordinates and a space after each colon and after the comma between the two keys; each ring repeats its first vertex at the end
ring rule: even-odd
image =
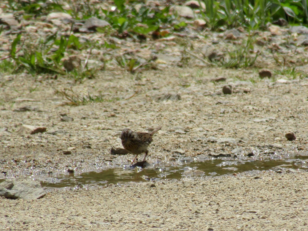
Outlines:
{"type": "Polygon", "coordinates": [[[308,173],[147,182],[0,198],[2,230],[307,230],[308,173]],[[260,178],[259,178],[260,177],[260,178]]]}

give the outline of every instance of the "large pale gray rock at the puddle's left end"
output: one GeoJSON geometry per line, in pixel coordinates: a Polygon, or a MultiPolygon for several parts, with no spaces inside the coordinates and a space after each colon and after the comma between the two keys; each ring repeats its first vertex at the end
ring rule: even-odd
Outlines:
{"type": "Polygon", "coordinates": [[[7,199],[33,200],[45,195],[41,184],[29,179],[8,179],[0,184],[0,196],[7,199]]]}

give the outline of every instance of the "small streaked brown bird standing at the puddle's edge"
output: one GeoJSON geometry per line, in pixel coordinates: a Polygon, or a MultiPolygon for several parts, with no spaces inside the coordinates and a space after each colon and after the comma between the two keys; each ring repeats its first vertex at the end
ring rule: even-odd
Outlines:
{"type": "Polygon", "coordinates": [[[123,129],[121,133],[122,145],[128,152],[136,155],[132,164],[135,162],[137,156],[142,152],[145,152],[143,161],[145,160],[148,155],[148,146],[152,142],[152,136],[160,129],[161,127],[158,127],[151,133],[134,132],[129,128],[123,129]]]}

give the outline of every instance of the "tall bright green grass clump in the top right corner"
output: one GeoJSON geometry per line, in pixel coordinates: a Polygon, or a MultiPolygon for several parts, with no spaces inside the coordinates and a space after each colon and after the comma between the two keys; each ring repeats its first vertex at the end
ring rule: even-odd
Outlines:
{"type": "Polygon", "coordinates": [[[204,3],[206,10],[201,9],[201,15],[213,30],[238,26],[265,29],[266,23],[279,18],[284,18],[289,23],[307,24],[305,0],[208,0],[204,3]]]}

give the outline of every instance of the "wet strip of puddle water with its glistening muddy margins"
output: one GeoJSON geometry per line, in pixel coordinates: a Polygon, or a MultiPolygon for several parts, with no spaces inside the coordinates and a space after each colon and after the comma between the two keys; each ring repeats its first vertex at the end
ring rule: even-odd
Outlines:
{"type": "Polygon", "coordinates": [[[71,170],[63,174],[36,173],[35,175],[29,175],[29,177],[40,181],[43,187],[63,188],[159,181],[165,179],[195,179],[237,175],[239,173],[257,175],[260,171],[283,173],[290,169],[293,169],[293,171],[308,170],[308,154],[306,156],[296,154],[296,152],[288,152],[284,157],[282,155],[260,159],[248,157],[245,160],[235,159],[233,157],[214,158],[210,156],[194,159],[182,158],[173,162],[172,165],[164,162],[152,164],[148,162],[137,162],[133,166],[114,166],[113,168],[106,168],[100,171],[74,173],[71,170]]]}

